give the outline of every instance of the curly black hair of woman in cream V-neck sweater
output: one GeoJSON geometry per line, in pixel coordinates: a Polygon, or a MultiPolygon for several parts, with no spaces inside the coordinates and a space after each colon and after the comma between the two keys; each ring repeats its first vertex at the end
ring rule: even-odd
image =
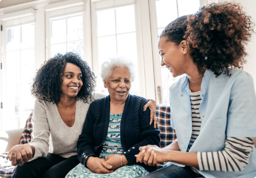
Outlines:
{"type": "Polygon", "coordinates": [[[76,96],[76,100],[89,103],[93,100],[92,92],[95,90],[95,75],[87,62],[83,61],[78,54],[56,54],[49,59],[37,71],[31,88],[32,95],[39,100],[46,100],[58,104],[60,101],[60,87],[67,63],[78,66],[82,72],[82,87],[76,96]],[[62,74],[62,75],[61,75],[62,74]]]}

